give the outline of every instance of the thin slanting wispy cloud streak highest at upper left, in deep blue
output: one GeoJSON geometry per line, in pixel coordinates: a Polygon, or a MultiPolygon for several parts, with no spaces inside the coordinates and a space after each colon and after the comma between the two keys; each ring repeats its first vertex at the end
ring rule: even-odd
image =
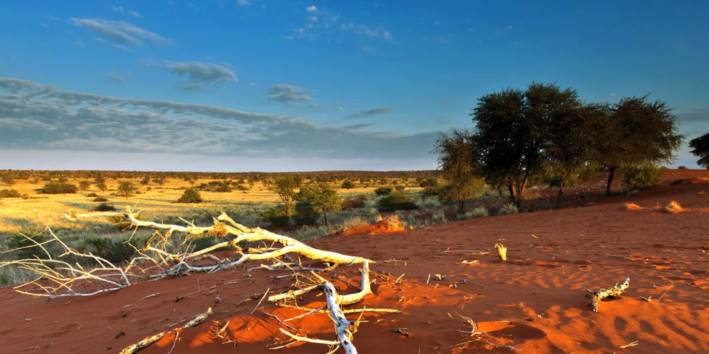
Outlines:
{"type": "Polygon", "coordinates": [[[103,18],[72,18],[71,21],[74,25],[91,30],[118,45],[145,45],[145,42],[155,45],[172,45],[173,42],[157,33],[125,21],[108,21],[103,18]]]}

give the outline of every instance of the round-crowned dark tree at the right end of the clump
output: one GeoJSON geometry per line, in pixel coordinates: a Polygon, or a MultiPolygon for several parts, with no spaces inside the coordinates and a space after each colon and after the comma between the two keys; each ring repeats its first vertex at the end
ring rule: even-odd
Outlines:
{"type": "Polygon", "coordinates": [[[683,135],[677,134],[677,118],[664,101],[642,97],[621,98],[608,115],[598,116],[594,124],[598,163],[608,171],[605,193],[611,193],[615,173],[633,164],[659,164],[674,161],[683,135]]]}

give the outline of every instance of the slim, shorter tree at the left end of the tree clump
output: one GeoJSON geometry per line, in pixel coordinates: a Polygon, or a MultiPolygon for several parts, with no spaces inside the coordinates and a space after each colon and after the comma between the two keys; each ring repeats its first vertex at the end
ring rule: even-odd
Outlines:
{"type": "Polygon", "coordinates": [[[457,202],[458,213],[462,214],[465,202],[478,197],[485,187],[475,167],[474,135],[468,130],[454,129],[451,135],[438,132],[433,152],[438,154],[441,177],[448,182],[442,188],[442,197],[457,202]]]}

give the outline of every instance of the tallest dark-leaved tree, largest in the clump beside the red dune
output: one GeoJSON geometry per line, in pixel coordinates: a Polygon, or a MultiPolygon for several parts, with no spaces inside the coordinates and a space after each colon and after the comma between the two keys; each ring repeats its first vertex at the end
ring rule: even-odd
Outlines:
{"type": "Polygon", "coordinates": [[[518,207],[532,176],[548,167],[554,120],[568,120],[578,108],[576,91],[554,84],[531,84],[479,98],[474,108],[475,149],[487,183],[506,185],[518,207]]]}

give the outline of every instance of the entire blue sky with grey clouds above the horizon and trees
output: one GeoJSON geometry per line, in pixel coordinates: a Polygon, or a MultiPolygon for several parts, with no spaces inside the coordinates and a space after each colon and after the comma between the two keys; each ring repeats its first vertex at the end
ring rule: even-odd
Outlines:
{"type": "MultiPolygon", "coordinates": [[[[532,81],[709,132],[709,2],[0,3],[0,168],[435,169],[436,132],[532,81]],[[106,156],[111,156],[110,159],[106,156]]],[[[688,141],[688,139],[686,141],[688,141]]],[[[679,152],[675,165],[696,167],[679,152]]]]}

